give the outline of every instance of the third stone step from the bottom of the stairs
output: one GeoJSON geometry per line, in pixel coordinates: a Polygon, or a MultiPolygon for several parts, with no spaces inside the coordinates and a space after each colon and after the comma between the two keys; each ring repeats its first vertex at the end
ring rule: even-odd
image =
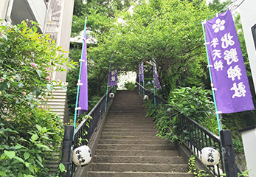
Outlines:
{"type": "Polygon", "coordinates": [[[179,156],[94,156],[94,163],[183,164],[179,156]]]}

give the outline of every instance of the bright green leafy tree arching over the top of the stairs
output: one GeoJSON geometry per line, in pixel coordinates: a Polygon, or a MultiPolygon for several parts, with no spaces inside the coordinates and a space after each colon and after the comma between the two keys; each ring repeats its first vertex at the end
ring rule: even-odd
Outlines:
{"type": "Polygon", "coordinates": [[[159,81],[166,89],[201,85],[207,77],[207,63],[198,23],[212,14],[207,5],[201,1],[139,1],[130,11],[115,14],[109,31],[97,36],[100,42],[89,50],[90,57],[108,66],[105,61],[115,51],[112,62],[134,71],[142,60],[154,57],[159,81]]]}

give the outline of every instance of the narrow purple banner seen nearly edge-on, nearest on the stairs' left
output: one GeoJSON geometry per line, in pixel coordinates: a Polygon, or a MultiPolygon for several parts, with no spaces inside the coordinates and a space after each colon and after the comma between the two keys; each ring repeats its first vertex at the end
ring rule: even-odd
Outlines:
{"type": "Polygon", "coordinates": [[[80,114],[83,114],[88,110],[88,80],[87,80],[87,35],[85,32],[85,41],[83,41],[83,53],[82,53],[82,68],[81,68],[81,78],[80,83],[83,83],[83,86],[80,86],[80,92],[79,92],[79,103],[78,107],[81,109],[78,111],[78,116],[80,114]]]}

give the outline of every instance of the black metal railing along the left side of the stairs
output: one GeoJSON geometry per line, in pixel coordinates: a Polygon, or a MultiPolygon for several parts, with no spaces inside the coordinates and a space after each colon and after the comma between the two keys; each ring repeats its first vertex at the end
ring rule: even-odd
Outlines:
{"type": "MultiPolygon", "coordinates": [[[[73,149],[76,147],[79,147],[81,145],[89,145],[89,142],[91,140],[91,137],[93,136],[94,132],[97,131],[97,124],[99,120],[103,117],[103,114],[105,114],[105,97],[108,97],[107,99],[107,107],[108,103],[110,102],[109,93],[111,93],[113,89],[110,89],[108,91],[108,94],[105,94],[103,97],[101,97],[100,101],[97,103],[97,105],[94,106],[94,108],[89,112],[88,116],[92,117],[92,119],[86,118],[84,119],[80,125],[75,128],[75,138],[73,141],[73,149]]],[[[72,174],[75,172],[77,166],[72,162],[72,174]]]]}

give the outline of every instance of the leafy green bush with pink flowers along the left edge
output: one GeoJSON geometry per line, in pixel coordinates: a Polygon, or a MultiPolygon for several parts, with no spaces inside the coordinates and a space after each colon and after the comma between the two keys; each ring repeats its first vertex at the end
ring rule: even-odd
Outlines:
{"type": "Polygon", "coordinates": [[[55,86],[63,86],[50,81],[49,69],[63,72],[64,63],[69,68],[75,63],[58,55],[64,51],[36,25],[0,26],[1,176],[48,176],[45,163],[58,160],[52,153],[60,152],[63,123],[44,104],[55,86]]]}

